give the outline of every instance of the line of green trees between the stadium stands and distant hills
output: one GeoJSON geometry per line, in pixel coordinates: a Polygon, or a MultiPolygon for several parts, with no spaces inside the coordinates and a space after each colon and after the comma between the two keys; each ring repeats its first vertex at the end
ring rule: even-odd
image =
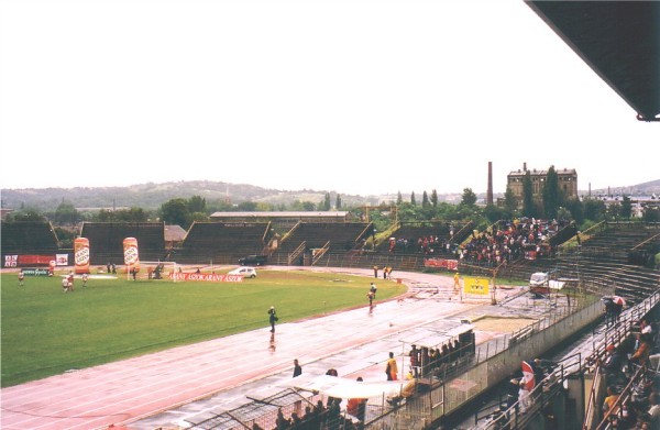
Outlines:
{"type": "MultiPolygon", "coordinates": [[[[595,198],[568,198],[559,187],[557,172],[551,166],[548,169],[542,192],[540,196],[532,194],[530,173],[527,172],[522,181],[521,201],[514,196],[510,188],[497,205],[477,205],[477,196],[471,188],[464,188],[460,203],[439,201],[438,192],[433,189],[430,195],[422,192],[421,201],[417,201],[415,192],[410,194],[407,201],[399,191],[396,202],[382,202],[376,210],[366,206],[345,206],[338,194],[334,199],[330,192],[315,203],[312,201],[295,200],[290,203],[266,203],[242,201],[233,205],[229,201],[207,202],[201,196],[190,198],[173,198],[161,205],[157,210],[147,210],[140,207],[128,209],[98,211],[79,211],[73,203],[62,201],[53,212],[40,212],[35,209],[21,208],[11,212],[6,222],[12,221],[51,221],[56,229],[63,246],[75,239],[76,225],[80,222],[165,222],[166,224],[180,225],[187,230],[195,221],[210,221],[210,214],[217,211],[227,212],[268,212],[268,211],[329,211],[344,210],[353,219],[369,220],[378,231],[386,230],[394,219],[400,222],[421,222],[432,220],[444,221],[473,221],[476,228],[483,230],[498,220],[513,220],[516,218],[563,219],[574,221],[580,230],[585,230],[592,224],[603,220],[626,220],[632,217],[632,205],[628,196],[624,196],[620,203],[608,207],[595,198]],[[394,209],[394,210],[393,210],[394,209]],[[369,212],[367,212],[369,211],[369,212]]],[[[646,208],[644,221],[659,222],[660,210],[646,208]]]]}

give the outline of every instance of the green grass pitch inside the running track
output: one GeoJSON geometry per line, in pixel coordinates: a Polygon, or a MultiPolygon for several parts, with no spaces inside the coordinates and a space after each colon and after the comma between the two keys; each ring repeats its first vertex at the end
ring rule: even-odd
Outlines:
{"type": "MultiPolygon", "coordinates": [[[[125,275],[124,275],[125,276],[125,275]]],[[[2,387],[367,304],[372,277],[260,269],[242,283],[1,275],[2,387]]],[[[405,286],[378,280],[378,301],[405,286]]]]}

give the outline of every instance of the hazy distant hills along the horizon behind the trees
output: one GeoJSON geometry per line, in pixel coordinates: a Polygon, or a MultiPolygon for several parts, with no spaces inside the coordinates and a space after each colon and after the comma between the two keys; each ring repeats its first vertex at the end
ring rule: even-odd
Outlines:
{"type": "MultiPolygon", "coordinates": [[[[430,191],[430,190],[429,190],[430,191]]],[[[228,184],[210,180],[183,180],[162,184],[140,184],[130,187],[76,187],[76,188],[25,188],[2,189],[1,201],[3,209],[34,208],[40,211],[54,211],[63,201],[76,208],[122,208],[139,207],[147,210],[161,208],[164,202],[175,199],[188,199],[201,196],[207,200],[207,206],[213,207],[215,202],[243,201],[265,202],[274,206],[289,205],[293,201],[311,201],[318,203],[330,192],[331,202],[337,198],[336,191],[301,189],[296,191],[268,189],[246,184],[228,184]]],[[[586,195],[588,191],[580,191],[586,195]]],[[[592,195],[607,194],[607,189],[592,190],[592,195]]],[[[660,179],[609,189],[610,194],[626,195],[660,195],[660,179]]],[[[380,205],[381,202],[396,201],[397,191],[384,196],[358,196],[340,194],[345,206],[380,205]]],[[[439,195],[441,201],[459,203],[462,190],[454,194],[439,195]]],[[[421,196],[416,196],[421,201],[421,196]]],[[[485,199],[485,192],[479,192],[480,201],[485,199]]],[[[498,196],[495,196],[498,197],[498,196]]],[[[404,200],[410,198],[403,196],[404,200]]]]}

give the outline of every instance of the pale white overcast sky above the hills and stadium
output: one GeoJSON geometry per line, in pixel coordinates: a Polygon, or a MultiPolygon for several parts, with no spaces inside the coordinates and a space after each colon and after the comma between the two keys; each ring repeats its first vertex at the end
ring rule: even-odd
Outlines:
{"type": "Polygon", "coordinates": [[[2,188],[628,186],[636,114],[522,0],[0,1],[2,188]]]}

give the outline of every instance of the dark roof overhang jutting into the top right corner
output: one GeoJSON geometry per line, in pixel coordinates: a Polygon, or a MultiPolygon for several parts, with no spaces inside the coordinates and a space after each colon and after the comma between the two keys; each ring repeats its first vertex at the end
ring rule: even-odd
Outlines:
{"type": "Polygon", "coordinates": [[[526,2],[638,120],[660,121],[660,2],[526,2]]]}

